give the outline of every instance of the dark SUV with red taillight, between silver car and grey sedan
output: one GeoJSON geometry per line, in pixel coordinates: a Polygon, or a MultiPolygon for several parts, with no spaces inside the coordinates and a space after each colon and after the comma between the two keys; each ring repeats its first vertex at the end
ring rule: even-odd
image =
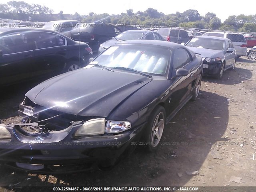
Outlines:
{"type": "Polygon", "coordinates": [[[178,44],[186,43],[190,40],[188,32],[178,28],[160,28],[156,32],[166,38],[167,41],[178,44]]]}

